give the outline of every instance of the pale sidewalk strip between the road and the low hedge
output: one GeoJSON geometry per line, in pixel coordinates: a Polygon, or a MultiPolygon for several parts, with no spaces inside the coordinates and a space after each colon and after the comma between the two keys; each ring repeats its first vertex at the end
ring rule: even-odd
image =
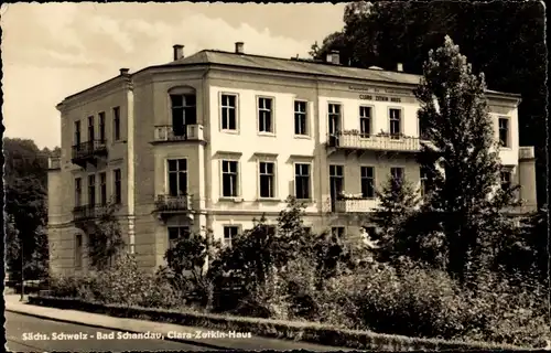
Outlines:
{"type": "Polygon", "coordinates": [[[55,308],[46,308],[40,306],[31,306],[26,302],[21,302],[20,296],[18,295],[4,295],[6,311],[14,312],[19,314],[32,315],[35,318],[41,318],[45,320],[61,321],[74,324],[84,324],[87,327],[101,328],[114,331],[126,331],[132,333],[161,333],[164,335],[165,340],[176,341],[183,343],[192,343],[196,345],[202,345],[210,349],[222,349],[222,350],[277,350],[277,351],[288,351],[288,350],[307,350],[317,352],[328,352],[328,351],[353,351],[352,349],[345,347],[334,347],[328,345],[320,345],[305,342],[296,341],[285,341],[277,339],[267,339],[261,336],[255,336],[248,339],[228,339],[228,338],[207,338],[207,339],[196,339],[195,335],[198,331],[201,332],[213,332],[215,330],[208,330],[204,328],[191,328],[183,327],[172,323],[161,323],[147,320],[137,319],[121,319],[114,318],[104,314],[90,313],[77,310],[62,310],[55,308]],[[191,335],[192,339],[171,339],[169,338],[169,332],[177,332],[184,335],[191,335]]]}

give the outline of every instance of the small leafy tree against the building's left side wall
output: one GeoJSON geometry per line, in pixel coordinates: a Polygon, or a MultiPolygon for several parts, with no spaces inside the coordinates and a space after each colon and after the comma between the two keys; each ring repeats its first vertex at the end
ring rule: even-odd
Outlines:
{"type": "Polygon", "coordinates": [[[118,208],[118,204],[109,202],[101,207],[99,216],[88,224],[91,229],[88,237],[88,256],[90,265],[98,270],[109,267],[126,244],[117,217],[118,208]]]}

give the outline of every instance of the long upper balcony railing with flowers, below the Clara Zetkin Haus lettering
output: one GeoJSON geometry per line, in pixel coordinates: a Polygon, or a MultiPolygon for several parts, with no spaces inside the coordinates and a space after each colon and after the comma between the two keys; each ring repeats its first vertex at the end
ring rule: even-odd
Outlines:
{"type": "Polygon", "coordinates": [[[343,131],[328,135],[327,146],[339,149],[406,151],[421,150],[420,139],[403,135],[365,135],[357,131],[343,131]]]}

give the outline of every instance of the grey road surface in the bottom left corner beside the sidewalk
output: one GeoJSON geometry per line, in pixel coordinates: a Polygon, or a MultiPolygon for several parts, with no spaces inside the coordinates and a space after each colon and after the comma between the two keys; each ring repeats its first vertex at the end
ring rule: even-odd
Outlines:
{"type": "MultiPolygon", "coordinates": [[[[85,313],[83,313],[85,314],[85,313]]],[[[43,320],[6,312],[6,341],[9,352],[154,352],[212,351],[213,349],[165,340],[98,340],[97,332],[114,331],[86,325],[43,320]],[[47,335],[50,340],[24,340],[29,333],[47,335]],[[87,335],[86,340],[53,340],[54,333],[87,335]]],[[[115,331],[117,335],[118,331],[115,331]]]]}

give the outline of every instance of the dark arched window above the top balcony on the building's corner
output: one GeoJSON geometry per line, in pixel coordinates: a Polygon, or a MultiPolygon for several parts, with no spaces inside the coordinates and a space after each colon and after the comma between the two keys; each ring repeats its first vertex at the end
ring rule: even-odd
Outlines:
{"type": "Polygon", "coordinates": [[[197,124],[196,95],[193,87],[174,87],[171,99],[172,132],[185,138],[188,125],[197,124]]]}

